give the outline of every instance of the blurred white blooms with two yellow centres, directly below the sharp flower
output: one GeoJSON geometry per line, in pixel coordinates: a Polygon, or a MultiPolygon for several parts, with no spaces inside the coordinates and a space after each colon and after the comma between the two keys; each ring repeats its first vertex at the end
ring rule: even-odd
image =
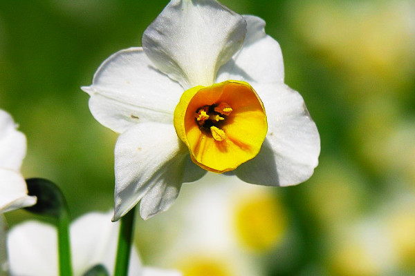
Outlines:
{"type": "Polygon", "coordinates": [[[140,246],[147,247],[152,264],[177,268],[186,276],[266,275],[258,257],[281,248],[288,221],[270,189],[208,172],[183,190],[169,214],[138,224],[136,233],[151,248],[140,246]],[[160,225],[172,227],[163,233],[160,225]]]}

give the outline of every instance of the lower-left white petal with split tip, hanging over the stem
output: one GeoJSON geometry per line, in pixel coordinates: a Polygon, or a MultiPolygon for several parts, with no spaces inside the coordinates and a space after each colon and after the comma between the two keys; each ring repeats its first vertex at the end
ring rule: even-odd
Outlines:
{"type": "Polygon", "coordinates": [[[138,124],[118,137],[115,150],[116,210],[120,219],[142,197],[144,219],[166,210],[183,183],[188,151],[172,124],[138,124]]]}

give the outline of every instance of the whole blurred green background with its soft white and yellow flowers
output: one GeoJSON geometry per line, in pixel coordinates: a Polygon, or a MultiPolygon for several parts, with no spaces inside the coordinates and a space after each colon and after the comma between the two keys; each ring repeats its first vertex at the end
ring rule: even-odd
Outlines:
{"type": "MultiPolygon", "coordinates": [[[[136,219],[142,262],[184,276],[415,275],[415,1],[221,2],[279,41],[286,83],[320,131],[320,165],[290,188],[213,174],[185,184],[169,211],[136,219]]],[[[140,46],[165,5],[0,1],[0,108],[28,139],[24,176],[57,183],[74,218],[113,208],[118,136],[80,86],[140,46]]]]}

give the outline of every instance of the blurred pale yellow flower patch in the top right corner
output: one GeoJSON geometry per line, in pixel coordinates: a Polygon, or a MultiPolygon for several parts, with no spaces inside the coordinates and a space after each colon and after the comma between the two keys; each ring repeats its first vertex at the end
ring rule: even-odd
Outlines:
{"type": "Polygon", "coordinates": [[[415,72],[415,3],[292,1],[291,12],[308,47],[342,70],[352,103],[405,98],[415,72]],[[410,84],[409,84],[410,85],[410,84]]]}

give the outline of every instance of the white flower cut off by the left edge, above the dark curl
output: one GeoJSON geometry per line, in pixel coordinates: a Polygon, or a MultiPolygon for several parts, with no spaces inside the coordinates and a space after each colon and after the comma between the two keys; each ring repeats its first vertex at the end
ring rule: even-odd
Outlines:
{"type": "Polygon", "coordinates": [[[26,137],[16,128],[12,117],[0,110],[0,214],[36,203],[36,197],[27,195],[26,181],[20,173],[26,137]]]}

